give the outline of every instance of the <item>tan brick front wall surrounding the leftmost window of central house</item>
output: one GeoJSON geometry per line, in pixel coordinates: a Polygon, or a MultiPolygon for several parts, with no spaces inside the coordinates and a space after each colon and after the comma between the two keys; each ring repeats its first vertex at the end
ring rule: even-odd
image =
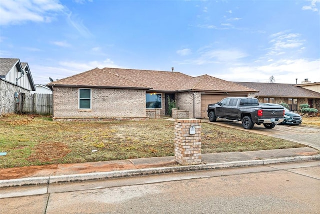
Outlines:
{"type": "Polygon", "coordinates": [[[78,88],[53,87],[53,119],[145,119],[145,90],[91,88],[91,109],[78,109],[78,88]]]}

